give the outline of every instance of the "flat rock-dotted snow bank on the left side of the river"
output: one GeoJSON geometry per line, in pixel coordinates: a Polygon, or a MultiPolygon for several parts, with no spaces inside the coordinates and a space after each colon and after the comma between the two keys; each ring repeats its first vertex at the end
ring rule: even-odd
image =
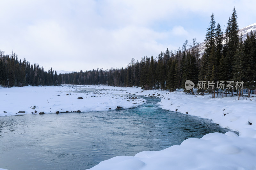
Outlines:
{"type": "MultiPolygon", "coordinates": [[[[92,92],[92,90],[97,90],[94,89],[95,87],[88,86],[87,88],[73,85],[1,88],[0,116],[24,114],[19,112],[25,112],[25,114],[44,112],[46,114],[56,111],[100,111],[109,108],[116,109],[117,106],[132,108],[146,101],[134,95],[129,95],[130,98],[127,95],[115,95],[114,93],[119,92],[116,89],[111,91],[114,88],[95,92],[92,92]],[[87,88],[92,89],[88,91],[87,88]],[[83,99],[77,99],[78,97],[83,99]]],[[[124,94],[129,93],[124,92],[124,94]]]]}

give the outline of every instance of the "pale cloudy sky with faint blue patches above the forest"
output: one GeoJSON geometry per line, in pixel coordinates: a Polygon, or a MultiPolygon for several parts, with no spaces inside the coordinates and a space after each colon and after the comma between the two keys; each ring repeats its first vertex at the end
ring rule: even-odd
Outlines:
{"type": "Polygon", "coordinates": [[[45,70],[126,67],[133,57],[203,42],[210,16],[222,29],[233,8],[242,28],[255,0],[0,0],[0,50],[45,70]]]}

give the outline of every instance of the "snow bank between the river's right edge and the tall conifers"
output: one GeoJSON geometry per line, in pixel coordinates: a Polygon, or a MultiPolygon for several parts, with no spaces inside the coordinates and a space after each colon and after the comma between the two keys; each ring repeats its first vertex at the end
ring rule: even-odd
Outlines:
{"type": "Polygon", "coordinates": [[[196,96],[172,92],[164,94],[160,107],[211,119],[221,127],[239,132],[242,137],[256,137],[255,97],[237,96],[212,99],[211,95],[196,96]],[[247,99],[247,100],[246,100],[247,99]],[[247,131],[247,132],[246,132],[247,131]]]}

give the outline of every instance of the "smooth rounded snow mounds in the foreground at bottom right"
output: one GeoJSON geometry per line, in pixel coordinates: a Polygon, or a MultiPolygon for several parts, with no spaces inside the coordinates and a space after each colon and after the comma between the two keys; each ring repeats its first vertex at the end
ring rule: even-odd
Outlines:
{"type": "Polygon", "coordinates": [[[255,169],[256,139],[233,132],[189,138],[162,151],[145,151],[102,161],[91,170],[239,170],[255,169]]]}

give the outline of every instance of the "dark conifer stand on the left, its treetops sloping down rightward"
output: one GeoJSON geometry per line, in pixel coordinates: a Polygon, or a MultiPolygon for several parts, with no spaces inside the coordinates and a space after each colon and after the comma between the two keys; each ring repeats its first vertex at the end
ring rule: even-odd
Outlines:
{"type": "Polygon", "coordinates": [[[56,71],[44,71],[38,64],[31,64],[26,58],[21,62],[17,54],[5,55],[0,50],[0,85],[5,87],[14,86],[39,86],[39,85],[59,85],[56,71]]]}

